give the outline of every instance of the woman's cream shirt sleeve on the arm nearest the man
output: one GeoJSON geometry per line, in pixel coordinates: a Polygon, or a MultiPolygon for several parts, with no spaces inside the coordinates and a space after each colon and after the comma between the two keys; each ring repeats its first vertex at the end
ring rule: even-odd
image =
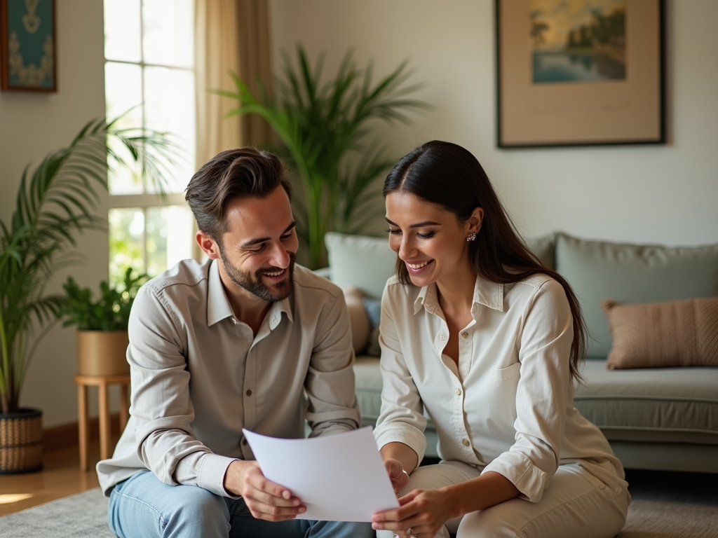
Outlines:
{"type": "Polygon", "coordinates": [[[396,317],[392,299],[385,290],[381,301],[381,414],[374,437],[381,448],[388,443],[408,445],[419,461],[426,451],[426,417],[419,390],[407,367],[396,333],[396,317]]]}

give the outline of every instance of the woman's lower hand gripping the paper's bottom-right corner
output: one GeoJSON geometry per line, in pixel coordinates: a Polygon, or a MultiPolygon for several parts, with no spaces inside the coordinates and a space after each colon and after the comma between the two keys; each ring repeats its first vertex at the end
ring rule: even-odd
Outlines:
{"type": "Polygon", "coordinates": [[[391,530],[400,537],[433,538],[444,523],[459,516],[447,489],[415,489],[399,499],[401,506],[374,514],[371,527],[391,530]]]}

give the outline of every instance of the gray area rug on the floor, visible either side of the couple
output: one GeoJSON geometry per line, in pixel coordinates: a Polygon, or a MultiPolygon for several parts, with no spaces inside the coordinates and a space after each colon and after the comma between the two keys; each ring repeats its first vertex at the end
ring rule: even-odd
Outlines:
{"type": "MultiPolygon", "coordinates": [[[[718,538],[718,476],[628,471],[633,502],[617,538],[718,538]]],[[[3,538],[112,538],[100,489],[0,517],[3,538]]]]}

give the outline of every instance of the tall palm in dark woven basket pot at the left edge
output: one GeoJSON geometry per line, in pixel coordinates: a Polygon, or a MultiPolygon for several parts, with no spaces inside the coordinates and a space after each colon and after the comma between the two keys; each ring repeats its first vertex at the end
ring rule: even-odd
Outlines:
{"type": "Polygon", "coordinates": [[[0,220],[0,473],[42,467],[42,412],[19,407],[20,393],[38,342],[67,304],[47,283],[72,263],[78,234],[103,225],[94,211],[108,166],[162,187],[175,148],[162,133],[95,120],[24,170],[11,220],[0,220]]]}

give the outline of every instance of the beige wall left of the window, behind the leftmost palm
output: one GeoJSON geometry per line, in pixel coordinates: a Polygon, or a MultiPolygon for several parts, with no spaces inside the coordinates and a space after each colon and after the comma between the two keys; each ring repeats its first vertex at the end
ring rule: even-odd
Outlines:
{"type": "MultiPolygon", "coordinates": [[[[105,115],[103,5],[98,0],[57,2],[57,93],[0,92],[0,219],[9,223],[22,170],[67,146],[90,119],[105,115]]],[[[105,208],[106,210],[106,208],[105,208]]],[[[93,288],[107,278],[108,241],[101,232],[80,237],[86,258],[72,269],[93,288]]],[[[48,288],[61,291],[67,270],[48,288]]],[[[21,395],[38,407],[45,427],[78,420],[75,329],[56,327],[39,345],[21,395]]]]}

